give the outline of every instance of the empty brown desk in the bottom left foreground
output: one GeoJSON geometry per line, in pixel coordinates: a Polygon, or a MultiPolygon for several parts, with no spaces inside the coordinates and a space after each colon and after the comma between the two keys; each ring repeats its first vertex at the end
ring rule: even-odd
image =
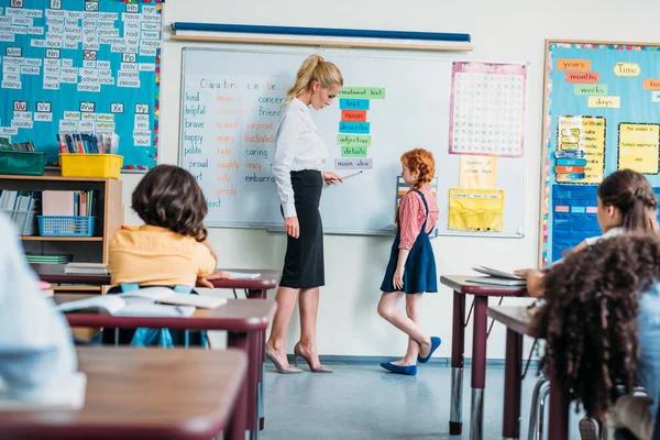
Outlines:
{"type": "Polygon", "coordinates": [[[80,410],[1,411],[0,438],[211,439],[245,436],[246,358],[238,350],[78,348],[80,410]]]}

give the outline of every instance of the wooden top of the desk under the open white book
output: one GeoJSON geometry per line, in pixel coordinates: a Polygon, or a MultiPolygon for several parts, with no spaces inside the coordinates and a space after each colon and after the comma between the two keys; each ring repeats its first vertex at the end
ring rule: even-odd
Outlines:
{"type": "MultiPolygon", "coordinates": [[[[84,299],[95,295],[55,294],[55,304],[84,299]]],[[[273,299],[228,299],[215,309],[197,309],[191,317],[113,317],[92,312],[65,314],[72,327],[138,327],[185,330],[265,330],[277,308],[273,299]]]]}

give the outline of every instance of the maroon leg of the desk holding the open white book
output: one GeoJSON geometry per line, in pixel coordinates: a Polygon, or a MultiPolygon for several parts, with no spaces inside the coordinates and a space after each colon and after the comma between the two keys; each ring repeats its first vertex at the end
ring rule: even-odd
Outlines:
{"type": "Polygon", "coordinates": [[[245,410],[245,427],[250,431],[250,439],[258,439],[258,408],[256,403],[256,391],[258,372],[261,372],[257,353],[257,332],[229,332],[228,345],[243,350],[248,354],[248,378],[245,393],[248,398],[248,408],[245,410]]]}

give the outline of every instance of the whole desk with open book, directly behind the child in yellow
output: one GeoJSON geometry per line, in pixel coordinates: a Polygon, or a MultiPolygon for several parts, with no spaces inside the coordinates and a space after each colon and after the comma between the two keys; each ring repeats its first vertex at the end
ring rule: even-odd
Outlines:
{"type": "MultiPolygon", "coordinates": [[[[82,298],[76,294],[58,294],[54,296],[56,304],[82,298]]],[[[248,354],[248,429],[252,437],[257,437],[261,425],[265,332],[276,304],[272,299],[229,299],[217,309],[198,309],[189,318],[163,317],[113,317],[97,314],[66,314],[72,327],[107,327],[121,329],[169,328],[177,330],[226,330],[228,345],[243,350],[248,354]]]]}

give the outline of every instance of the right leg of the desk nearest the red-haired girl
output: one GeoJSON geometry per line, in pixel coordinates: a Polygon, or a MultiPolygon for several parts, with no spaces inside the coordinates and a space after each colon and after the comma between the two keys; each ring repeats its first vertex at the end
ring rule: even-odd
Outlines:
{"type": "Polygon", "coordinates": [[[488,332],[487,296],[474,296],[474,331],[472,336],[472,403],[470,440],[484,438],[484,388],[486,387],[486,339],[488,332]]]}

